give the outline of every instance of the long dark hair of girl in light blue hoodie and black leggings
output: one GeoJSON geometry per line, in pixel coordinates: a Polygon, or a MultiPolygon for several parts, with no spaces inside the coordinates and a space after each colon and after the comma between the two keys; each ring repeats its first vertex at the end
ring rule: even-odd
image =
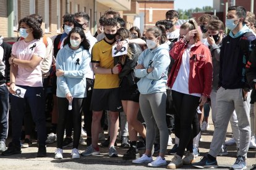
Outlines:
{"type": "Polygon", "coordinates": [[[83,32],[82,28],[79,28],[79,27],[75,27],[69,32],[69,35],[67,36],[67,38],[64,41],[64,46],[66,46],[66,44],[69,44],[69,47],[71,46],[70,36],[72,33],[78,33],[80,35],[81,39],[83,39],[83,41],[81,41],[81,43],[80,43],[80,46],[83,46],[83,49],[86,49],[86,50],[90,49],[90,44],[89,44],[88,40],[86,39],[85,33],[83,32]]]}

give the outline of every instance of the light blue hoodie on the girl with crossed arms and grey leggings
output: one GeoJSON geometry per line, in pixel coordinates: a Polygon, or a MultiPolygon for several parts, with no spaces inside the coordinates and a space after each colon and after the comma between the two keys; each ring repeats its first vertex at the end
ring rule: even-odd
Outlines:
{"type": "Polygon", "coordinates": [[[135,76],[140,78],[138,89],[141,94],[152,94],[166,91],[167,71],[170,64],[169,51],[166,44],[156,47],[156,49],[146,49],[140,54],[138,64],[145,69],[135,70],[135,76]],[[151,73],[147,73],[147,68],[154,68],[151,73]]]}

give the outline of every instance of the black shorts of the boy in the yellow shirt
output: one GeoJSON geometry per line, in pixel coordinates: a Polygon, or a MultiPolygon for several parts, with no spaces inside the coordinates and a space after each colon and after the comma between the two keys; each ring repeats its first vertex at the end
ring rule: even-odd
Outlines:
{"type": "Polygon", "coordinates": [[[90,109],[93,111],[123,111],[122,103],[119,99],[119,88],[117,87],[113,89],[93,89],[90,109]]]}

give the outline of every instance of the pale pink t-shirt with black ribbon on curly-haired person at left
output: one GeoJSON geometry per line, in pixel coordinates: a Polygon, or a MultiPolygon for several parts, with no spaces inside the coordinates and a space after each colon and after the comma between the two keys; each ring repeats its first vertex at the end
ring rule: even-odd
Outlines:
{"type": "MultiPolygon", "coordinates": [[[[30,42],[17,41],[12,45],[12,54],[20,60],[31,60],[33,55],[38,55],[44,59],[46,47],[45,44],[38,39],[30,42]]],[[[35,69],[23,68],[18,65],[15,84],[30,87],[42,87],[42,73],[40,64],[35,69]]]]}

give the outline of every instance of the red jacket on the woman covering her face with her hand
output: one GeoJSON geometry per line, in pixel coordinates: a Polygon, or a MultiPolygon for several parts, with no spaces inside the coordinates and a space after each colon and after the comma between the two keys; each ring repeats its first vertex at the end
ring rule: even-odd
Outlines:
{"type": "MultiPolygon", "coordinates": [[[[181,67],[182,55],[187,48],[184,42],[176,42],[169,52],[176,60],[169,74],[167,85],[171,88],[176,80],[181,67]]],[[[211,52],[202,42],[197,42],[190,50],[189,94],[199,93],[210,97],[211,83],[213,80],[213,65],[211,52]]]]}

